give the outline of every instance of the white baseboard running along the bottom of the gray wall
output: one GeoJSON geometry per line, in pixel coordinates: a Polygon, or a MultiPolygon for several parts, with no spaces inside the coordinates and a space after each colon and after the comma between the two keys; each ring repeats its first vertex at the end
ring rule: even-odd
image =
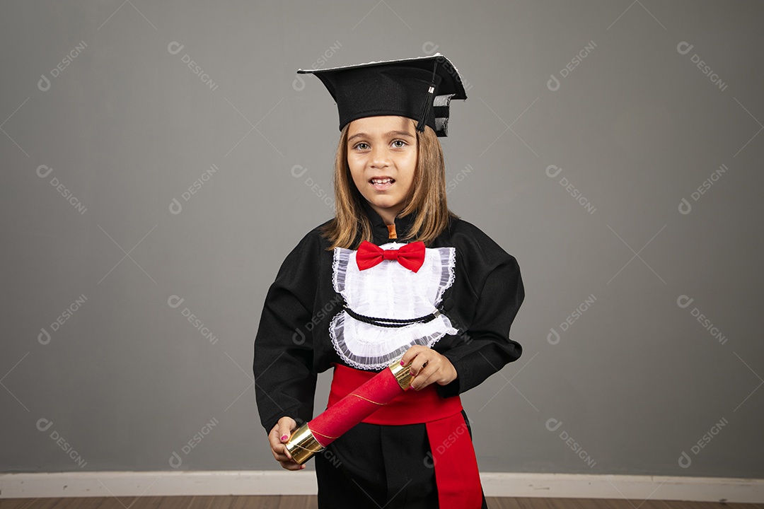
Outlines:
{"type": "MultiPolygon", "coordinates": [[[[487,497],[764,502],[764,479],[481,473],[487,497]]],[[[53,472],[0,474],[0,498],[316,495],[316,472],[53,472]]]]}

